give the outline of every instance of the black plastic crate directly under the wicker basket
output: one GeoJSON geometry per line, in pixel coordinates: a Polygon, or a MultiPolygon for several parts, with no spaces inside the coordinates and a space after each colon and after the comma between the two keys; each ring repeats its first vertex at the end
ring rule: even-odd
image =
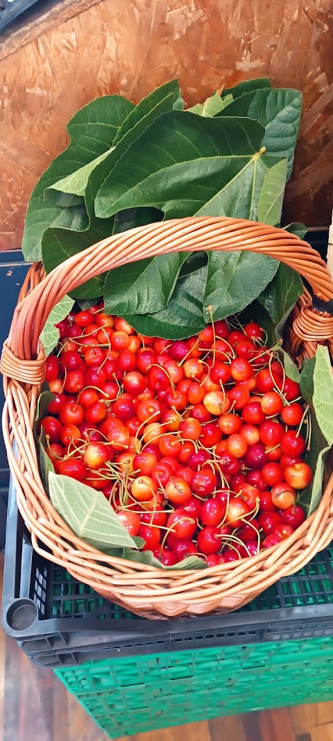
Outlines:
{"type": "Polygon", "coordinates": [[[10,485],[2,625],[38,666],[331,636],[333,548],[229,614],[149,621],[136,617],[38,556],[10,485]]]}

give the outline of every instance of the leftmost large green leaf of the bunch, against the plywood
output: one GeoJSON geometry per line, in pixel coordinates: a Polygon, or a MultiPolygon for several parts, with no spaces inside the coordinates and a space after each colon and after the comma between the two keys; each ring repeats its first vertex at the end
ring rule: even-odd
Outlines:
{"type": "Polygon", "coordinates": [[[121,96],[105,96],[75,113],[67,125],[71,143],[59,154],[38,180],[27,210],[22,250],[26,260],[41,259],[41,237],[48,227],[81,231],[88,226],[84,203],[72,205],[63,196],[64,205],[44,201],[44,191],[59,179],[70,176],[112,146],[115,133],[133,104],[121,96]]]}

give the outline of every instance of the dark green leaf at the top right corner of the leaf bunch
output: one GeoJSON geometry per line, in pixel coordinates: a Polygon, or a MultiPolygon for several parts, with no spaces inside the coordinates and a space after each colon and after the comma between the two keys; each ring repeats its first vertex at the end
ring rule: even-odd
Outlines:
{"type": "Polygon", "coordinates": [[[292,172],[300,125],[302,94],[299,90],[263,88],[243,93],[222,111],[223,116],[249,116],[265,127],[262,144],[270,154],[286,157],[287,178],[292,172]]]}

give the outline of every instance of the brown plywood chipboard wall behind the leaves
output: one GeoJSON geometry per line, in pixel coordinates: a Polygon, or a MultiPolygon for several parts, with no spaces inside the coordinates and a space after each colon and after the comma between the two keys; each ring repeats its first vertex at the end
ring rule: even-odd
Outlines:
{"type": "Polygon", "coordinates": [[[0,62],[0,248],[19,247],[38,176],[66,123],[105,93],[137,102],[178,76],[186,102],[269,75],[303,90],[286,218],[330,221],[332,0],[101,0],[0,62]]]}

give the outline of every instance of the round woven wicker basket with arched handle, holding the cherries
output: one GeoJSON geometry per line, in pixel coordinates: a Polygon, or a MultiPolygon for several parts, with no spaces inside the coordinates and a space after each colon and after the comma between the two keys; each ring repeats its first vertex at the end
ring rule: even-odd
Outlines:
{"type": "MultiPolygon", "coordinates": [[[[1,359],[6,396],[4,441],[19,510],[31,531],[33,547],[103,597],[150,619],[235,610],[280,576],[298,571],[333,537],[332,477],[317,511],[289,539],[260,551],[258,556],[203,571],[166,572],[101,554],[75,536],[50,504],[38,472],[33,437],[36,400],[45,365],[38,337],[50,310],[66,293],[110,268],[184,250],[264,253],[297,270],[321,299],[333,298],[333,284],[325,263],[297,236],[243,219],[175,219],[105,239],[68,259],[48,276],[44,276],[41,265],[33,265],[21,291],[1,359]]],[[[310,357],[317,342],[330,345],[332,337],[333,318],[315,313],[306,291],[295,308],[287,338],[293,356],[310,357]]]]}

